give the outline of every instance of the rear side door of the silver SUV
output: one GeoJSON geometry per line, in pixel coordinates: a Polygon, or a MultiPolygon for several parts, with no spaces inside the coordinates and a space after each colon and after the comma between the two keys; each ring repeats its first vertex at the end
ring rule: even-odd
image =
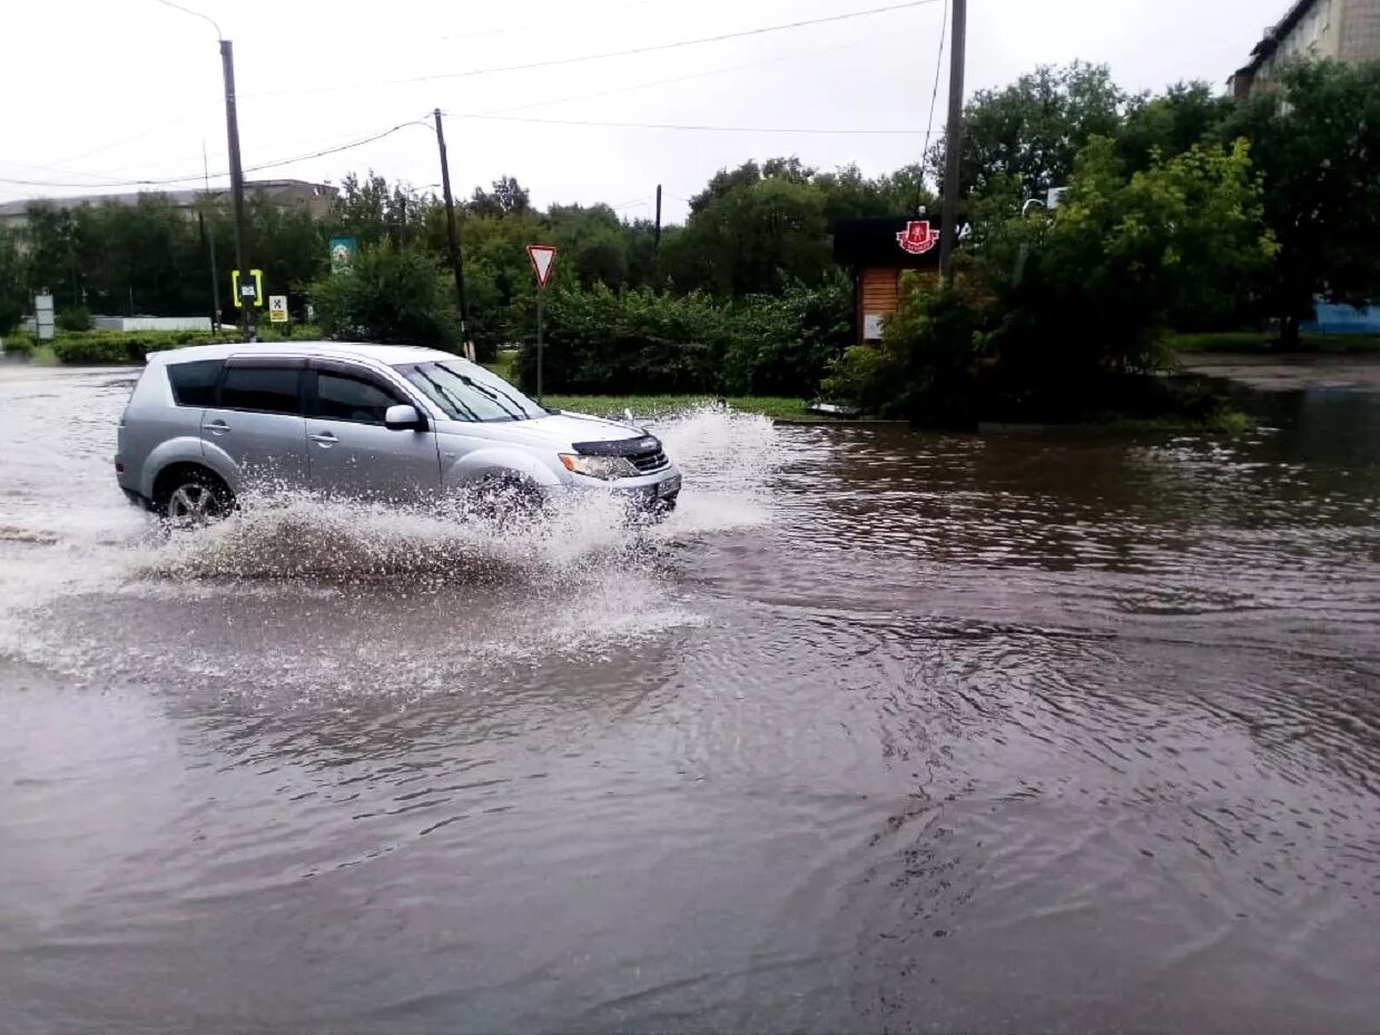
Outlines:
{"type": "Polygon", "coordinates": [[[244,482],[241,489],[306,486],[305,373],[304,359],[225,360],[214,404],[201,413],[201,450],[229,460],[244,482]]]}

